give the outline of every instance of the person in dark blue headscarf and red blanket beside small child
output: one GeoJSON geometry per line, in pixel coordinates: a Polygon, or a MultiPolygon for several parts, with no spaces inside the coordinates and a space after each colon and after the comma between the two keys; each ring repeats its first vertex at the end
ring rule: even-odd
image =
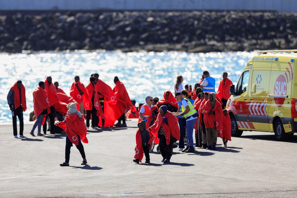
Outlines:
{"type": "Polygon", "coordinates": [[[163,157],[161,162],[168,163],[172,156],[172,145],[180,138],[179,126],[176,117],[167,111],[167,106],[161,106],[159,112],[157,120],[148,131],[158,136],[159,149],[163,157]]]}

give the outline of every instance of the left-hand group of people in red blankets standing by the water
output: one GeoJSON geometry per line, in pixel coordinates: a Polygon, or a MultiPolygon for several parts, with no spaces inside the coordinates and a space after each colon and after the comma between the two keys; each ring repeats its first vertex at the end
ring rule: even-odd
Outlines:
{"type": "MultiPolygon", "coordinates": [[[[114,77],[115,86],[112,89],[109,85],[99,79],[99,74],[91,74],[89,83],[85,87],[80,82],[80,77],[75,76],[68,96],[59,83],[52,83],[52,77],[46,77],[45,81],[40,81],[33,91],[34,114],[36,121],[30,132],[35,136],[34,130],[37,128],[37,136],[44,136],[47,133],[47,120],[49,120],[50,134],[59,132],[59,127],[55,126],[55,119],[61,115],[63,121],[67,115],[67,105],[77,102],[77,109],[85,115],[86,126],[89,129],[90,120],[92,129],[99,129],[102,126],[125,127],[126,110],[131,110],[135,114],[135,106],[131,103],[124,84],[118,77],[114,77]],[[84,111],[85,110],[85,111],[84,111]],[[106,116],[108,115],[108,116],[106,116]],[[115,121],[118,123],[115,124],[115,121]],[[41,127],[43,125],[43,128],[41,127]],[[43,129],[43,134],[41,132],[43,129]]],[[[21,80],[18,80],[7,95],[7,102],[12,112],[13,134],[18,138],[17,117],[20,120],[20,137],[23,135],[23,111],[26,111],[26,89],[21,80]]]]}

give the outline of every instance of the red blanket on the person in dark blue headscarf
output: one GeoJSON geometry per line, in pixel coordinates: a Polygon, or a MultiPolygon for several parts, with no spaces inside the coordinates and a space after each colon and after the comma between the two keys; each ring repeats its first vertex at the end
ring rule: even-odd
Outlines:
{"type": "Polygon", "coordinates": [[[154,124],[149,127],[149,131],[151,131],[154,136],[158,136],[158,131],[160,129],[160,126],[162,124],[162,127],[165,131],[165,137],[166,137],[166,144],[169,145],[170,143],[170,134],[176,138],[176,140],[179,140],[180,138],[180,131],[179,131],[179,126],[178,122],[176,121],[176,117],[169,111],[165,113],[165,118],[167,118],[168,125],[163,122],[163,116],[158,114],[157,120],[154,122],[154,124]]]}

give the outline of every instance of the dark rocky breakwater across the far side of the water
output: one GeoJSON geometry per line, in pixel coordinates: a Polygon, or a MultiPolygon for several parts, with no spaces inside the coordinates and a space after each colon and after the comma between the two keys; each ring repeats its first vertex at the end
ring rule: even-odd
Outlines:
{"type": "Polygon", "coordinates": [[[131,11],[0,17],[0,51],[186,52],[296,48],[297,13],[131,11]]]}

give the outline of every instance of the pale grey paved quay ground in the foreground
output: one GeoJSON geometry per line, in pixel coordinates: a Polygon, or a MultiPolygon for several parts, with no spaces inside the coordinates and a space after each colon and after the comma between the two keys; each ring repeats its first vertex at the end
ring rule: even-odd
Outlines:
{"type": "MultiPolygon", "coordinates": [[[[170,164],[150,153],[151,164],[132,162],[137,121],[127,128],[88,130],[88,164],[72,147],[64,162],[65,134],[13,138],[1,125],[0,197],[296,197],[297,135],[277,142],[274,134],[244,132],[229,148],[174,149],[170,164]]],[[[36,133],[36,132],[35,132],[36,133]]],[[[154,149],[156,151],[156,147],[154,149]]]]}

